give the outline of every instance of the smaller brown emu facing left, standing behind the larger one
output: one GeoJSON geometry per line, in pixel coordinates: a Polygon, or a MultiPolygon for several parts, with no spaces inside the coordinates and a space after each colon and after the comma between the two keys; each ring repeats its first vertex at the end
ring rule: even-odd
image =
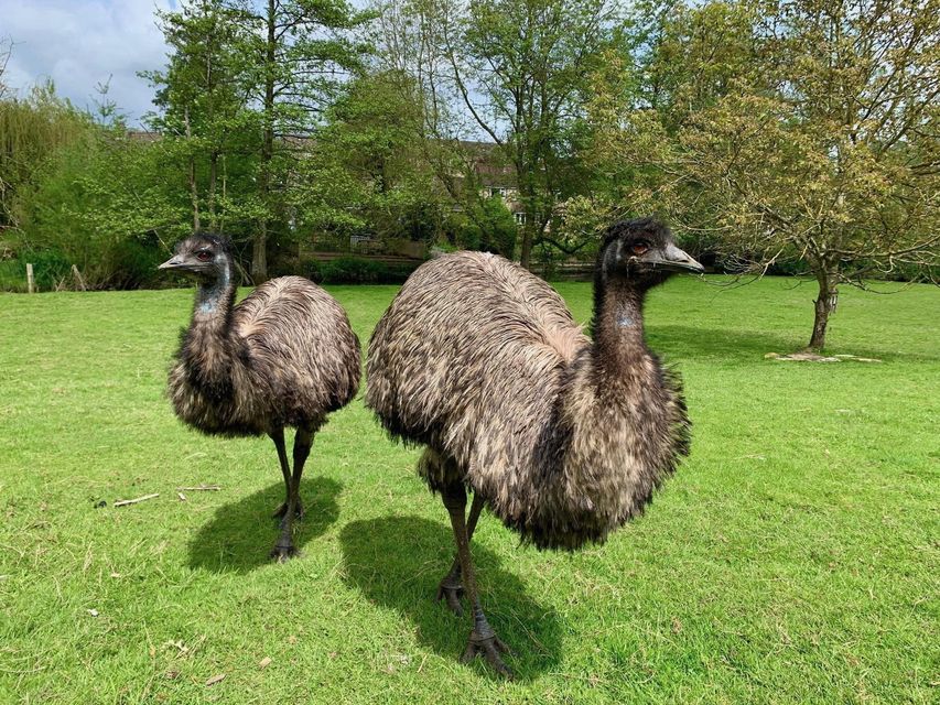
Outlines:
{"type": "Polygon", "coordinates": [[[183,240],[160,269],[198,283],[193,321],[170,371],[176,415],[207,434],[271,436],[287,494],[274,513],[281,535],[271,555],[285,561],[295,553],[292,522],[303,514],[300,479],[313,434],[358,391],[359,340],[339,304],[301,276],[266,282],[235,305],[234,258],[223,237],[183,240]],[[293,473],[285,426],[296,429],[293,473]]]}

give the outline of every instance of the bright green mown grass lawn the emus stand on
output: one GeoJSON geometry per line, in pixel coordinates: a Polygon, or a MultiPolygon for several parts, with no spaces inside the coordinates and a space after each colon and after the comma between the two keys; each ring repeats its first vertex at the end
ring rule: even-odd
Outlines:
{"type": "MultiPolygon", "coordinates": [[[[586,321],[588,286],[559,289],[586,321]]],[[[395,294],[331,291],[363,340],[395,294]]],[[[601,547],[484,517],[512,683],[457,662],[446,514],[361,400],[315,440],[303,556],[268,562],[271,443],[202,437],[162,395],[191,295],[0,296],[0,703],[938,701],[937,290],[844,292],[828,351],[884,361],[829,365],[764,358],[806,343],[811,285],[655,292],[692,457],[601,547]]]]}

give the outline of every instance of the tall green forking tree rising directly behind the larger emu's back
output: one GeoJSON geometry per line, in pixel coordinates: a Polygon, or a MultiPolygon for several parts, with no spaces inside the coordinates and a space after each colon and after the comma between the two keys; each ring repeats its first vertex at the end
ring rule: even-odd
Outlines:
{"type": "Polygon", "coordinates": [[[572,127],[612,19],[604,0],[476,0],[444,24],[457,93],[516,173],[523,267],[570,186],[572,127]]]}

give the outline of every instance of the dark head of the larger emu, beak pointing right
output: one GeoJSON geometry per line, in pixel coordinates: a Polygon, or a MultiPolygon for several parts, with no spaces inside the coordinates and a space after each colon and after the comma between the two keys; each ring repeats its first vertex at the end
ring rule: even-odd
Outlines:
{"type": "Polygon", "coordinates": [[[661,284],[677,272],[704,271],[676,246],[669,228],[655,218],[615,223],[604,235],[597,256],[601,281],[625,279],[642,290],[661,284]]]}

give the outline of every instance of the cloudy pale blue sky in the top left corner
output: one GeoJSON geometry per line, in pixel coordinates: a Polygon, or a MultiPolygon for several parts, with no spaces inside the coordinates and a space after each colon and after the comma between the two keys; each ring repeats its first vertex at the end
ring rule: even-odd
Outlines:
{"type": "Polygon", "coordinates": [[[0,42],[13,43],[3,83],[24,95],[52,78],[60,96],[94,109],[95,86],[110,76],[108,98],[137,127],[153,108],[153,90],[137,72],[166,63],[154,12],[175,6],[175,0],[0,0],[0,42]]]}

